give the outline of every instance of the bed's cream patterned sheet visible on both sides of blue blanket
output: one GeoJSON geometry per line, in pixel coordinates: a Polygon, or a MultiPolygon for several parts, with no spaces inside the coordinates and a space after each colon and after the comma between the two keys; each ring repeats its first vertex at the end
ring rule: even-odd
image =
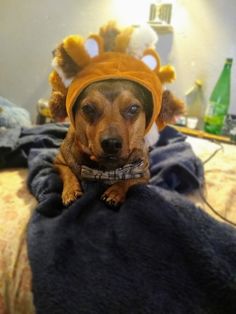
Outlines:
{"type": "MultiPolygon", "coordinates": [[[[188,136],[195,154],[204,164],[205,197],[223,217],[236,223],[236,146],[213,143],[188,136]]],[[[0,171],[0,313],[35,312],[31,292],[31,270],[26,247],[26,229],[37,204],[27,189],[28,170],[0,171]],[[20,208],[20,211],[19,211],[20,208]]],[[[197,191],[186,197],[199,204],[216,219],[197,191]]]]}

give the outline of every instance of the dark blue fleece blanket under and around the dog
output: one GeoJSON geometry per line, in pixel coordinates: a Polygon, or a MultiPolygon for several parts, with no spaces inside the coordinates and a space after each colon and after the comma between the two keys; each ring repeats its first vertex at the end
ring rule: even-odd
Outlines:
{"type": "Polygon", "coordinates": [[[2,155],[5,165],[16,151],[27,160],[39,201],[28,228],[37,313],[236,313],[236,231],[181,195],[203,184],[201,162],[181,134],[162,132],[150,152],[150,184],[131,188],[114,211],[97,183],[63,207],[52,166],[61,129],[54,131],[21,132],[2,155]]]}

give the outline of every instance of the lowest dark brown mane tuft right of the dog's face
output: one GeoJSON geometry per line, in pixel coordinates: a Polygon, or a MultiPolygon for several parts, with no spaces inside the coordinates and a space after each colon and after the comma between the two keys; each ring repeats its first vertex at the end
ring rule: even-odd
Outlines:
{"type": "Polygon", "coordinates": [[[175,117],[186,112],[185,104],[176,98],[169,90],[162,94],[161,111],[157,118],[157,125],[163,128],[167,123],[174,123],[175,117]]]}

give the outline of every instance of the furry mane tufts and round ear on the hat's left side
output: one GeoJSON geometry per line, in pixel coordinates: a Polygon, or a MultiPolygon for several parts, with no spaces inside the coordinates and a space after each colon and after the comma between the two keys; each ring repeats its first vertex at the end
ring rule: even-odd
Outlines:
{"type": "Polygon", "coordinates": [[[65,103],[68,87],[76,74],[102,51],[103,40],[98,35],[91,35],[86,41],[79,35],[68,36],[53,51],[49,108],[54,120],[62,121],[67,117],[65,103]]]}

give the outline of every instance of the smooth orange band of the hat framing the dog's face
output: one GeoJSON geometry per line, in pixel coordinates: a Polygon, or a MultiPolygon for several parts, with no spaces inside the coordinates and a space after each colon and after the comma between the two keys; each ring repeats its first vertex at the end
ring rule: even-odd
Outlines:
{"type": "Polygon", "coordinates": [[[153,110],[146,131],[158,117],[161,109],[162,85],[158,76],[142,61],[119,52],[106,52],[92,60],[72,81],[66,98],[66,110],[74,123],[73,105],[80,93],[91,83],[108,79],[126,79],[144,86],[152,94],[153,110]]]}

